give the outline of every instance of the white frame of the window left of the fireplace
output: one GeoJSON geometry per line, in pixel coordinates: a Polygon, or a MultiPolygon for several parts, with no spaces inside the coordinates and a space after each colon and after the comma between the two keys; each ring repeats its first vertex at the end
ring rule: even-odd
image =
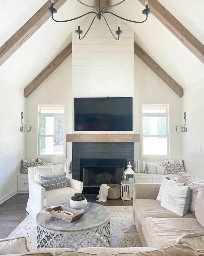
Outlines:
{"type": "Polygon", "coordinates": [[[67,143],[66,143],[66,105],[43,105],[43,104],[40,104],[38,105],[38,134],[37,134],[37,141],[38,141],[38,145],[37,145],[37,152],[38,152],[38,157],[39,158],[43,158],[43,159],[52,159],[52,158],[55,158],[55,159],[65,159],[67,158],[67,143]],[[59,107],[59,106],[62,106],[64,107],[64,113],[40,113],[40,107],[59,107]],[[53,135],[40,135],[40,118],[41,117],[64,117],[64,120],[65,120],[65,130],[64,130],[64,135],[58,135],[59,137],[63,137],[64,138],[64,147],[63,147],[63,151],[64,151],[64,154],[63,155],[40,155],[40,137],[53,137],[55,136],[54,134],[53,135]]]}

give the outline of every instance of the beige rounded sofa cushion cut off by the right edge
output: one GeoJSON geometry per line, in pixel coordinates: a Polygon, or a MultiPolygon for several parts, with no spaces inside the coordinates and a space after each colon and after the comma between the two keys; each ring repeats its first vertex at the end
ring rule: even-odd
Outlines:
{"type": "Polygon", "coordinates": [[[204,186],[199,186],[195,203],[195,215],[197,221],[204,227],[204,186]]]}

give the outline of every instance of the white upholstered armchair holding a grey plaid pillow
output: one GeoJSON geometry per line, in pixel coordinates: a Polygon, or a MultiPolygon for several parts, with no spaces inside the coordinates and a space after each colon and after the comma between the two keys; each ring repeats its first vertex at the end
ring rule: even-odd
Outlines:
{"type": "Polygon", "coordinates": [[[26,211],[36,218],[45,207],[69,202],[74,193],[82,193],[83,183],[67,178],[69,187],[45,191],[39,176],[54,176],[63,173],[63,165],[37,166],[28,168],[29,199],[26,211]]]}

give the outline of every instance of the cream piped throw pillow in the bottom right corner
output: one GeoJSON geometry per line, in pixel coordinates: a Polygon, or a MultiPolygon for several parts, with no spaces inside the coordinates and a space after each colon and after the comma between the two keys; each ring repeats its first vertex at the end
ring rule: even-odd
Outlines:
{"type": "Polygon", "coordinates": [[[204,233],[187,233],[181,235],[177,240],[176,244],[191,245],[194,249],[204,249],[204,233]]]}

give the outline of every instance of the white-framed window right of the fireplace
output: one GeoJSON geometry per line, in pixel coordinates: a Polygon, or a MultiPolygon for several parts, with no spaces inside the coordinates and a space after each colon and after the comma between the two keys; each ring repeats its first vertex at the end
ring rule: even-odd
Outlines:
{"type": "Polygon", "coordinates": [[[168,105],[142,105],[141,158],[169,157],[168,105]]]}

